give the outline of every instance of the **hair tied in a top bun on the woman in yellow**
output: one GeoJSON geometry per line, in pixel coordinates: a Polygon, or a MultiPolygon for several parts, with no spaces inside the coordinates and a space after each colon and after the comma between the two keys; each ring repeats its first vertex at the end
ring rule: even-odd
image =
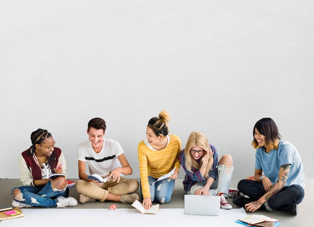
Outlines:
{"type": "Polygon", "coordinates": [[[152,117],[149,119],[147,126],[150,127],[156,135],[163,134],[164,136],[166,136],[169,133],[169,121],[169,113],[166,110],[162,110],[158,114],[158,117],[152,117]]]}

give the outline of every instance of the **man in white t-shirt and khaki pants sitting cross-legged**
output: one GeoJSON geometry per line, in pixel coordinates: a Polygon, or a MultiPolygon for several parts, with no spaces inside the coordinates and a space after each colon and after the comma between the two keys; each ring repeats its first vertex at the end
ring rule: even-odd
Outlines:
{"type": "Polygon", "coordinates": [[[78,171],[80,180],[76,181],[75,189],[80,193],[81,203],[95,200],[119,201],[133,203],[139,196],[134,193],[139,188],[136,179],[125,178],[123,175],[132,173],[121,145],[110,138],[105,138],[106,122],[99,117],[88,122],[89,140],[77,146],[78,171]],[[88,164],[89,174],[85,172],[88,164]],[[108,181],[100,182],[88,178],[98,174],[107,177],[108,181]]]}

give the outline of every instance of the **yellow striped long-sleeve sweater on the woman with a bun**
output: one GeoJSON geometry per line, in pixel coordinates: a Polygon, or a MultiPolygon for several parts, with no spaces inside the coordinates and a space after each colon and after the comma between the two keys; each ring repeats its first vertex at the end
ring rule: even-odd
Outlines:
{"type": "Polygon", "coordinates": [[[150,149],[144,140],[138,144],[137,152],[143,197],[150,197],[148,175],[159,178],[169,173],[174,167],[180,169],[181,140],[178,135],[170,134],[169,136],[168,145],[161,150],[150,149]]]}

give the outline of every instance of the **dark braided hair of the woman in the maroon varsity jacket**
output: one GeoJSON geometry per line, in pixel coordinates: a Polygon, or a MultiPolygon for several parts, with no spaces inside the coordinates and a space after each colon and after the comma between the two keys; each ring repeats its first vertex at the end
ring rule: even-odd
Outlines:
{"type": "MultiPolygon", "coordinates": [[[[35,145],[42,144],[47,138],[50,138],[50,137],[52,137],[52,135],[46,129],[38,128],[36,131],[33,131],[31,134],[32,145],[28,149],[28,153],[31,156],[34,156],[35,150],[36,150],[35,145]]],[[[50,156],[47,156],[47,161],[50,164],[50,166],[54,166],[57,164],[58,161],[56,159],[55,152],[52,152],[50,156]]]]}

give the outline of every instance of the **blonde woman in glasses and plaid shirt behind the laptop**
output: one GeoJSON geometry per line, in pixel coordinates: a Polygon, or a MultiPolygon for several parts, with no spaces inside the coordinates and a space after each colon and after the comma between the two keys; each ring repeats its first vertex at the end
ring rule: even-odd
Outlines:
{"type": "Polygon", "coordinates": [[[226,198],[239,195],[239,191],[229,189],[233,172],[231,155],[224,154],[218,161],[216,147],[209,144],[203,133],[193,131],[179,159],[186,171],[183,185],[187,194],[217,194],[221,208],[232,208],[226,198]]]}

